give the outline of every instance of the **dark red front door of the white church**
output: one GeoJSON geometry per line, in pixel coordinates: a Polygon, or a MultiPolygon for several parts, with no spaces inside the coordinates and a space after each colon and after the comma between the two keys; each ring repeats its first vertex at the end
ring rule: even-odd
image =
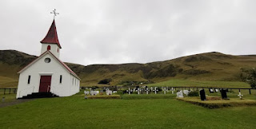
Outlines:
{"type": "Polygon", "coordinates": [[[39,92],[50,92],[51,76],[41,76],[39,92]]]}

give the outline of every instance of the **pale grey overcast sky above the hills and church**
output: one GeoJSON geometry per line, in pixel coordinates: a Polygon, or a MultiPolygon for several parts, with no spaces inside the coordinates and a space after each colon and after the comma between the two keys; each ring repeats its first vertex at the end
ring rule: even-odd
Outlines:
{"type": "Polygon", "coordinates": [[[255,54],[254,0],[1,0],[0,49],[39,56],[55,18],[60,59],[147,63],[196,53],[255,54]]]}

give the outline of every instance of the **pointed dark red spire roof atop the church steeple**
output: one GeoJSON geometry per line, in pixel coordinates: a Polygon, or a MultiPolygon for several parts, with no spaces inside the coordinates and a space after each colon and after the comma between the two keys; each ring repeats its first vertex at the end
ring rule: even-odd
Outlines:
{"type": "Polygon", "coordinates": [[[50,25],[50,29],[46,34],[46,37],[40,41],[42,44],[57,44],[60,49],[62,49],[61,45],[58,42],[58,34],[55,25],[55,21],[50,25]]]}

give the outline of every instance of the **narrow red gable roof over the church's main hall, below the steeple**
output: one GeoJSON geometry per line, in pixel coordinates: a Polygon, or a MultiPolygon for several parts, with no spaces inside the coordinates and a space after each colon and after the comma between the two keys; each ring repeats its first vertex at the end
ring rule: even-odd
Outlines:
{"type": "MultiPolygon", "coordinates": [[[[50,51],[46,51],[45,53],[42,53],[38,58],[36,58],[34,61],[32,61],[29,65],[26,65],[26,67],[22,68],[22,70],[20,70],[18,73],[23,72],[26,68],[29,68],[31,65],[33,65],[36,61],[38,61],[41,57],[43,57],[44,55],[46,55],[46,53],[50,53],[50,51]]],[[[73,70],[71,68],[69,68],[64,62],[60,61],[57,57],[54,56],[53,53],[50,53],[50,55],[52,55],[61,65],[64,66],[64,68],[66,68],[66,70],[68,70],[73,76],[76,76],[78,78],[78,80],[81,80],[77,74],[75,74],[73,72],[73,70]]]]}

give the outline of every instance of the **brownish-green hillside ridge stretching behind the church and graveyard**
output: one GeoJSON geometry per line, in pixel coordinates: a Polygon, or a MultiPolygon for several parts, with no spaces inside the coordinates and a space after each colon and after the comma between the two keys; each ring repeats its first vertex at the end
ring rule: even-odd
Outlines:
{"type": "MultiPolygon", "coordinates": [[[[17,72],[36,56],[15,50],[0,50],[0,88],[16,87],[17,72]]],[[[169,61],[147,64],[75,65],[66,63],[82,79],[81,85],[96,85],[111,80],[110,85],[153,83],[164,80],[240,80],[240,68],[256,66],[256,56],[232,56],[223,53],[201,53],[169,61]]]]}

